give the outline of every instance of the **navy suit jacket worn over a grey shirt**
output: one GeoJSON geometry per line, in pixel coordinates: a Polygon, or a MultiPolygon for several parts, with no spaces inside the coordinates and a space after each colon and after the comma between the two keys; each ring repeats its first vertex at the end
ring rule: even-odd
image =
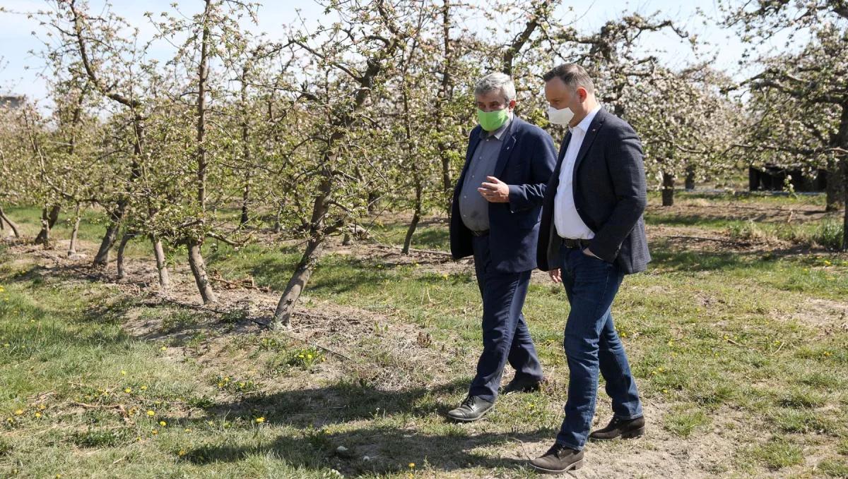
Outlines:
{"type": "MultiPolygon", "coordinates": [[[[471,130],[466,163],[454,190],[450,217],[450,252],[454,259],[473,254],[471,231],[460,217],[459,196],[480,142],[480,131],[480,125],[471,130]]],[[[493,176],[510,185],[510,201],[488,204],[489,251],[495,271],[521,273],[536,267],[538,222],[544,191],[556,162],[556,149],[543,129],[517,116],[503,139],[493,176]]]]}

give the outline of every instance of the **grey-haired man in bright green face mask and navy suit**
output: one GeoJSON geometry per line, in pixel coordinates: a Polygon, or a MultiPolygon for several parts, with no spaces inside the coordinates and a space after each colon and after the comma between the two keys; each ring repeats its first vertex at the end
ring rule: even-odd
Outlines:
{"type": "Polygon", "coordinates": [[[474,256],[483,296],[483,353],[468,395],[449,418],[477,421],[494,406],[509,361],[514,379],[502,394],[533,391],[543,379],[522,315],[536,267],[542,198],[554,169],[550,135],[513,113],[516,87],[506,74],[477,82],[477,119],[456,183],[450,221],[455,259],[474,256]]]}

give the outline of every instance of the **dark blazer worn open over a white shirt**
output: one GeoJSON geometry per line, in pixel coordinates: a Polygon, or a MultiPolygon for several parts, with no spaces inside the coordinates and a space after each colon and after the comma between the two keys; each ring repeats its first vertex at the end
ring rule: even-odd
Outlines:
{"type": "MultiPolygon", "coordinates": [[[[560,267],[560,241],[554,225],[554,197],[571,133],[562,140],[556,168],[544,195],[538,235],[538,267],[560,267]]],[[[589,250],[625,274],[650,262],[642,212],[647,204],[642,144],[630,125],[601,108],[589,124],[574,162],[574,206],[594,232],[589,250]]]]}

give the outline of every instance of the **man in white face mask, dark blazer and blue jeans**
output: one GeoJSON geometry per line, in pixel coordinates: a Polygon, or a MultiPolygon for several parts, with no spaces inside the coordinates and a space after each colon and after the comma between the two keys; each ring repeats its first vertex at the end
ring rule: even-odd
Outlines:
{"type": "Polygon", "coordinates": [[[571,311],[563,342],[570,372],[566,417],[538,471],[583,465],[587,438],[635,438],[644,433],[642,404],[611,306],[625,274],[650,262],[642,213],[646,187],[642,147],[627,122],[607,113],[589,74],[565,64],[544,74],[551,123],[567,124],[556,168],[545,191],[538,267],[566,289],[571,311]],[[613,418],[589,434],[599,372],[613,418]]]}

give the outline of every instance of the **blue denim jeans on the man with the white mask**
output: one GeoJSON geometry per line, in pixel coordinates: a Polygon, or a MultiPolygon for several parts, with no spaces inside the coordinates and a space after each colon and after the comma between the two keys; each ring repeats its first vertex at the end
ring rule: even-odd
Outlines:
{"type": "Polygon", "coordinates": [[[587,256],[579,248],[563,247],[561,265],[562,284],[572,307],[563,341],[570,372],[566,418],[556,442],[579,450],[589,437],[599,372],[616,418],[642,416],[642,403],[612,322],[612,301],[624,274],[616,265],[587,256]]]}

